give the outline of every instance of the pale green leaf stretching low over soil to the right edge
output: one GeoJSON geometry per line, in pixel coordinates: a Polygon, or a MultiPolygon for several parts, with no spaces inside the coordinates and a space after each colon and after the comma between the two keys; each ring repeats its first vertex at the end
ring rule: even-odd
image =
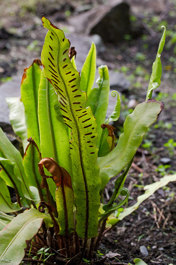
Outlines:
{"type": "Polygon", "coordinates": [[[144,200],[149,198],[158,189],[166,186],[170,181],[176,181],[176,174],[164,176],[163,178],[160,178],[159,181],[146,185],[144,187],[145,193],[137,197],[137,203],[124,209],[124,211],[118,216],[118,219],[122,220],[124,217],[135,211],[144,200]]]}

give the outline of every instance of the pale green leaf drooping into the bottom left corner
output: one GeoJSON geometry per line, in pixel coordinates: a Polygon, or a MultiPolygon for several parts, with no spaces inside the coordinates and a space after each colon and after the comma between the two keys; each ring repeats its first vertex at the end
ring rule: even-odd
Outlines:
{"type": "Polygon", "coordinates": [[[0,233],[0,264],[19,265],[25,255],[28,243],[42,226],[52,226],[49,215],[36,209],[29,209],[15,217],[0,233]]]}

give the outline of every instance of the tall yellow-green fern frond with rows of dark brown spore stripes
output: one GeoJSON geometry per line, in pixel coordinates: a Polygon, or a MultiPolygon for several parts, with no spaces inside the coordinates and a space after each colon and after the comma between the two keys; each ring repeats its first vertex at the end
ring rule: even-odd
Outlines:
{"type": "Polygon", "coordinates": [[[100,206],[100,178],[96,165],[96,120],[90,108],[85,108],[87,95],[80,90],[80,76],[68,57],[70,42],[62,30],[44,16],[49,29],[42,50],[44,75],[58,93],[60,110],[66,125],[72,128],[70,154],[73,170],[73,190],[76,204],[76,231],[80,237],[97,234],[100,206]]]}

